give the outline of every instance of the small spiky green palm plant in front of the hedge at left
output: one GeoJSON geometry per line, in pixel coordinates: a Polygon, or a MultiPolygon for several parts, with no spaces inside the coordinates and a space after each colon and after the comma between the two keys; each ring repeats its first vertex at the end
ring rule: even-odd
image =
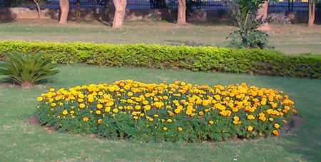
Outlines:
{"type": "Polygon", "coordinates": [[[29,88],[34,83],[53,76],[59,71],[55,69],[57,64],[51,64],[49,57],[44,58],[39,53],[33,56],[21,53],[6,54],[7,62],[0,64],[0,75],[9,76],[21,84],[22,88],[29,88]]]}

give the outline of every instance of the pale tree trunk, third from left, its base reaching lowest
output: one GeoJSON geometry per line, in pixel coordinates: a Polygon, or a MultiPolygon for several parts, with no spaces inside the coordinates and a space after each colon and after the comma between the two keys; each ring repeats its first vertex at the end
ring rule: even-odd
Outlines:
{"type": "Polygon", "coordinates": [[[115,5],[115,16],[113,17],[113,29],[121,29],[123,27],[123,19],[125,18],[125,11],[127,0],[113,0],[115,5]]]}

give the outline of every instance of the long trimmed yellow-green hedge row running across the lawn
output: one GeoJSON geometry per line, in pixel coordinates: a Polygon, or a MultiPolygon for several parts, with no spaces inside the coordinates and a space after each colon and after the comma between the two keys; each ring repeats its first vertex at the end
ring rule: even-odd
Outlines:
{"type": "Polygon", "coordinates": [[[260,49],[159,44],[94,44],[40,41],[0,41],[0,61],[5,52],[39,53],[58,64],[187,69],[242,74],[321,78],[320,55],[284,55],[260,49]]]}

